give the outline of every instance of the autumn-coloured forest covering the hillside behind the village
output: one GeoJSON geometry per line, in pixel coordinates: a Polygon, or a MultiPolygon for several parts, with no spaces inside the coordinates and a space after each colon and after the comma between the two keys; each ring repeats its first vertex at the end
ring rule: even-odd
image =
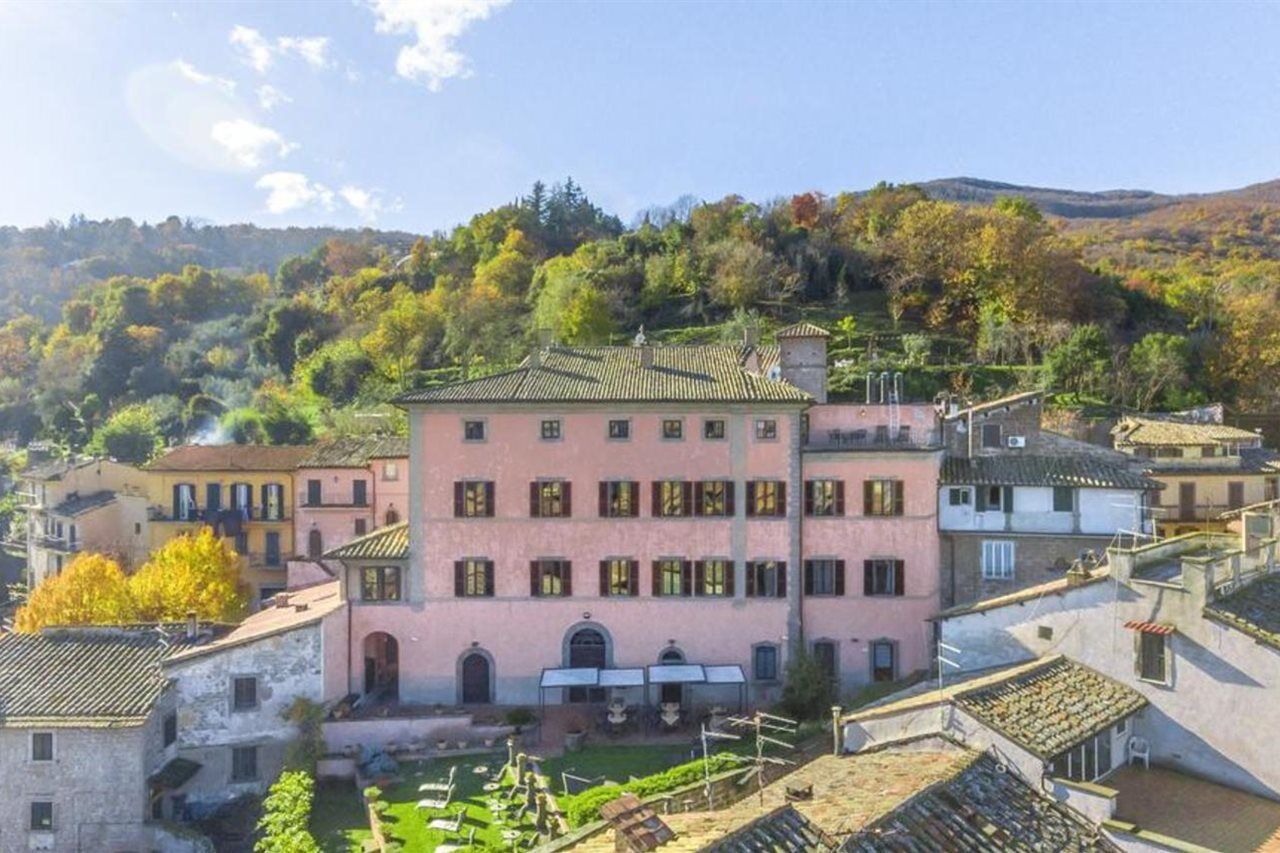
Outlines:
{"type": "Polygon", "coordinates": [[[426,236],[8,228],[0,439],[142,461],[178,441],[397,429],[398,391],[508,368],[539,330],[687,343],[797,319],[832,330],[847,393],[901,370],[915,400],[1043,387],[1065,409],[1271,410],[1277,236],[1270,196],[1066,219],[1025,195],[892,184],[684,200],[625,227],[571,179],[426,236]]]}

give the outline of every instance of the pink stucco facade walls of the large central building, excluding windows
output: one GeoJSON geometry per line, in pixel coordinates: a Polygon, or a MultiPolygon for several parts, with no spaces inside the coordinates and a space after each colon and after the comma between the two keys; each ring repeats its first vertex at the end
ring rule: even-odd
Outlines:
{"type": "MultiPolygon", "coordinates": [[[[411,492],[403,497],[412,507],[411,544],[402,601],[362,602],[360,571],[374,564],[351,566],[352,692],[365,686],[362,661],[367,638],[376,633],[396,639],[398,693],[408,702],[462,701],[463,662],[479,656],[490,680],[488,701],[535,703],[544,669],[579,662],[571,660],[570,642],[581,629],[604,638],[603,654],[612,667],[658,663],[675,653],[690,663],[737,663],[749,680],[749,699],[760,703],[777,697],[790,649],[801,639],[829,644],[845,689],[872,680],[877,643],[882,663],[890,656],[888,675],[924,669],[927,620],[938,601],[941,451],[925,441],[932,409],[900,407],[895,425],[910,423],[914,434],[900,446],[824,446],[828,430],[874,434],[890,420],[887,406],[861,405],[411,407],[411,492]],[[465,421],[477,420],[484,438],[466,441],[465,421]],[[559,424],[554,438],[544,438],[548,420],[559,424]],[[611,421],[618,420],[628,424],[626,439],[609,437],[611,421]],[[663,423],[671,420],[682,423],[682,438],[663,437],[663,423]],[[707,437],[708,420],[724,421],[723,437],[707,437]],[[530,484],[547,479],[571,484],[568,517],[532,517],[530,484]],[[842,482],[844,515],[806,516],[808,479],[842,482]],[[900,514],[864,516],[869,479],[899,484],[900,514]],[[635,517],[600,517],[599,484],[617,480],[637,483],[635,517]],[[652,489],[662,480],[732,482],[733,514],[655,517],[652,489]],[[749,514],[748,484],[758,480],[783,485],[785,512],[778,517],[749,514]],[[457,517],[454,484],[465,482],[493,483],[492,517],[457,517]],[[732,594],[654,594],[654,562],[667,558],[726,561],[732,594]],[[456,594],[456,564],[463,560],[492,562],[492,596],[456,594]],[[535,560],[568,561],[571,594],[531,596],[535,560]],[[637,564],[636,594],[602,594],[600,562],[609,560],[637,564]],[[841,561],[840,594],[809,594],[805,560],[841,561]],[[901,590],[864,594],[864,565],[870,560],[901,564],[901,590]],[[751,596],[749,566],[764,561],[785,564],[786,588],[751,596]],[[774,669],[768,653],[758,658],[760,647],[776,649],[774,669]]],[[[713,695],[709,688],[701,690],[696,701],[713,695]]],[[[554,690],[545,698],[563,697],[554,690]]]]}

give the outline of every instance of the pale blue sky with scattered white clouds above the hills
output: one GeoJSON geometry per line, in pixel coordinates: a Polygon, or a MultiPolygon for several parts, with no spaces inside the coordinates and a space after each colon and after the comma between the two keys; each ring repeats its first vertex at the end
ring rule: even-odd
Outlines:
{"type": "Polygon", "coordinates": [[[1280,4],[0,0],[0,224],[1280,177],[1280,4]],[[264,88],[269,87],[269,88],[264,88]]]}

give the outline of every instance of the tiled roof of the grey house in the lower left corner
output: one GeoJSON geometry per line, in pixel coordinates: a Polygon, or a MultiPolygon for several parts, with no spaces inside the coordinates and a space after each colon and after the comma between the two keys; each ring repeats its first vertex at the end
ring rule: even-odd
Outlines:
{"type": "Polygon", "coordinates": [[[182,626],[0,634],[0,726],[137,725],[165,688],[160,661],[187,644],[182,626]]]}

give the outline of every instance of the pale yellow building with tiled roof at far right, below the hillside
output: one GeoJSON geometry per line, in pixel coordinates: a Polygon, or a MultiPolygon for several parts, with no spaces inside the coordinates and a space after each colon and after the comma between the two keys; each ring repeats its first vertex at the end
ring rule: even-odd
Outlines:
{"type": "Polygon", "coordinates": [[[1222,424],[1221,409],[1126,416],[1111,435],[1165,485],[1152,493],[1161,535],[1222,530],[1224,511],[1280,498],[1280,453],[1262,447],[1260,434],[1222,424]]]}

